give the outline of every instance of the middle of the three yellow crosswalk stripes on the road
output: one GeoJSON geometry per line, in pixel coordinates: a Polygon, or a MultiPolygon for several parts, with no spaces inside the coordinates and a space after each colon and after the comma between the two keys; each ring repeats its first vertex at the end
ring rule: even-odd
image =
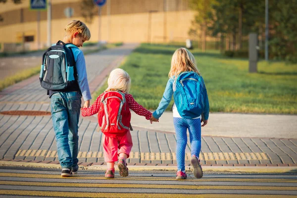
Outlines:
{"type": "Polygon", "coordinates": [[[137,188],[137,189],[187,189],[187,190],[267,190],[297,191],[297,187],[282,186],[209,186],[209,185],[163,185],[163,184],[94,184],[94,183],[60,183],[60,182],[18,182],[0,181],[0,185],[78,187],[78,188],[137,188]]]}

